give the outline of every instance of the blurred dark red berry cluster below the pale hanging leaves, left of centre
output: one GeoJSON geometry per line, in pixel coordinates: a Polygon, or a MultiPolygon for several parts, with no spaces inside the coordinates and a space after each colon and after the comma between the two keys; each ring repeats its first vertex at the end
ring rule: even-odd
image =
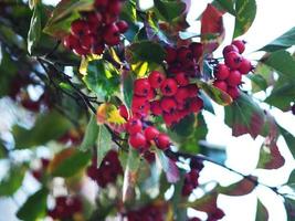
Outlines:
{"type": "Polygon", "coordinates": [[[116,150],[107,152],[99,168],[97,168],[97,159],[95,157],[92,160],[92,165],[87,168],[88,177],[102,188],[105,188],[108,183],[116,182],[117,177],[122,173],[123,168],[116,150]]]}

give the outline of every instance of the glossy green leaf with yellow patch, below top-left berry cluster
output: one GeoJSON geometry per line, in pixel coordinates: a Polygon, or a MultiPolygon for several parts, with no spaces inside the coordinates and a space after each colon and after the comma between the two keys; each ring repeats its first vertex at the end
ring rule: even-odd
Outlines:
{"type": "Polygon", "coordinates": [[[89,62],[83,81],[99,98],[110,96],[119,88],[118,70],[104,60],[89,62]]]}

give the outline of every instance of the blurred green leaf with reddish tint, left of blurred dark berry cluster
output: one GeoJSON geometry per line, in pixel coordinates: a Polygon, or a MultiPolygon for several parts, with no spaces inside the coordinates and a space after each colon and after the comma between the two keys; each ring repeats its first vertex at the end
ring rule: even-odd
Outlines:
{"type": "Polygon", "coordinates": [[[74,150],[70,157],[65,158],[54,168],[52,175],[64,178],[73,177],[88,165],[91,157],[89,151],[74,150]]]}

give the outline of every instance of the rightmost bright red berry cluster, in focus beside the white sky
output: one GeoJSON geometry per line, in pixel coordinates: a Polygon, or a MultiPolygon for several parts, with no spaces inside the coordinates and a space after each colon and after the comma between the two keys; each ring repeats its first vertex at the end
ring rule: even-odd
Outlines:
{"type": "Polygon", "coordinates": [[[239,85],[242,83],[242,75],[253,70],[251,61],[241,54],[245,50],[245,42],[234,40],[223,49],[224,64],[218,64],[214,71],[213,85],[228,93],[233,99],[240,96],[239,85]]]}

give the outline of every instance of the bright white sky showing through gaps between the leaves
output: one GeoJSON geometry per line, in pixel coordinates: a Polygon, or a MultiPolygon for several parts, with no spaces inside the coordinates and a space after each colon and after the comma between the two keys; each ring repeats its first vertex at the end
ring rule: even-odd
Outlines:
{"type": "MultiPolygon", "coordinates": [[[[191,0],[191,11],[188,15],[188,21],[192,24],[190,31],[199,32],[199,24],[194,22],[196,18],[204,10],[206,6],[210,1],[204,0],[191,0]]],[[[50,3],[59,2],[59,0],[48,0],[50,3]]],[[[247,41],[246,56],[257,57],[257,53],[252,53],[255,50],[262,48],[266,43],[271,42],[276,36],[281,35],[288,29],[295,25],[295,1],[294,0],[256,0],[257,2],[257,14],[256,19],[249,30],[249,32],[242,36],[243,40],[247,41]]],[[[143,7],[148,6],[150,0],[141,1],[143,7]]],[[[224,25],[226,30],[225,44],[231,42],[233,33],[233,17],[224,15],[224,25]]],[[[217,54],[219,55],[219,54],[217,54]]],[[[264,97],[263,93],[257,94],[257,97],[264,97]]],[[[208,141],[217,145],[226,146],[228,160],[226,165],[238,171],[250,173],[256,166],[260,146],[263,143],[263,138],[259,137],[253,140],[250,136],[242,136],[233,138],[231,136],[231,129],[223,124],[223,109],[214,105],[215,113],[218,116],[213,116],[206,113],[206,119],[208,127],[210,128],[208,135],[208,141]]],[[[276,117],[278,123],[295,135],[295,117],[289,113],[282,113],[274,108],[271,113],[276,117]]],[[[2,117],[3,118],[3,117],[2,117]]],[[[2,123],[0,123],[1,126],[2,123]]],[[[280,139],[280,148],[283,156],[286,159],[286,165],[276,170],[270,172],[255,171],[255,175],[261,177],[261,181],[270,186],[283,185],[294,168],[294,160],[289,154],[283,139],[280,139]]],[[[233,173],[225,171],[222,168],[212,166],[208,167],[202,172],[202,182],[209,180],[218,180],[221,185],[229,185],[239,179],[233,173]]],[[[34,188],[32,183],[27,183],[29,192],[33,192],[34,188]]],[[[198,193],[198,192],[197,192],[198,193]]],[[[24,200],[25,193],[22,191],[18,192],[18,199],[20,202],[24,200]]],[[[281,198],[275,196],[273,192],[265,188],[257,188],[253,193],[242,198],[230,198],[220,197],[218,200],[219,207],[221,207],[226,217],[222,221],[252,221],[255,218],[255,204],[256,196],[260,197],[263,203],[268,209],[270,221],[284,221],[286,220],[286,213],[281,198]]],[[[15,203],[12,200],[0,201],[0,221],[14,221],[13,217],[15,211],[15,203]]]]}

